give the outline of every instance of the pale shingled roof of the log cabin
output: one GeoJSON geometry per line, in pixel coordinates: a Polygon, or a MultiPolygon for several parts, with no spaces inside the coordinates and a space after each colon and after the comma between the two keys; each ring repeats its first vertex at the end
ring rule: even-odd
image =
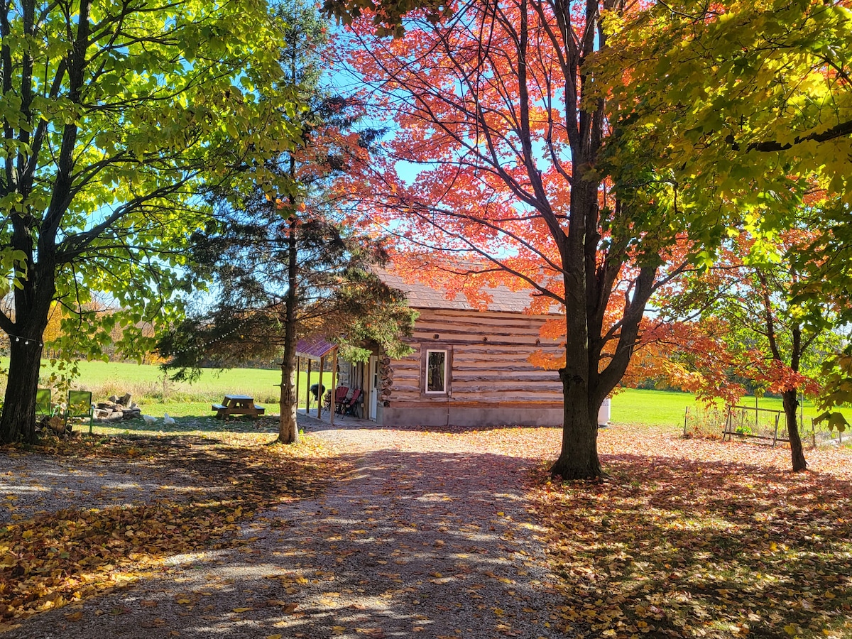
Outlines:
{"type": "MultiPolygon", "coordinates": [[[[467,296],[459,292],[453,299],[447,298],[447,291],[435,289],[419,279],[409,279],[395,273],[392,266],[388,268],[374,268],[377,276],[386,285],[394,289],[405,291],[408,305],[411,308],[441,308],[448,310],[481,310],[480,307],[469,302],[467,296]]],[[[485,296],[492,298],[487,303],[487,310],[504,313],[523,313],[530,303],[533,302],[533,289],[521,289],[512,291],[508,286],[498,285],[483,288],[480,291],[485,296]]]]}

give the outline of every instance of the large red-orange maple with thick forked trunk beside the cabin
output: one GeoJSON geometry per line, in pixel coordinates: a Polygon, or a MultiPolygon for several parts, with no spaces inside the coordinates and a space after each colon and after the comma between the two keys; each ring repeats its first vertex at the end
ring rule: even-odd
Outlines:
{"type": "Polygon", "coordinates": [[[649,297],[691,246],[670,186],[616,173],[603,153],[613,130],[585,64],[608,46],[602,12],[620,10],[477,0],[437,22],[414,13],[394,41],[355,21],[349,50],[372,114],[394,120],[384,163],[350,190],[400,247],[418,248],[400,250],[396,266],[423,277],[432,264],[435,280],[454,272],[455,290],[475,297],[497,281],[532,287],[532,312],[564,308],[564,439],[552,472],[566,479],[602,475],[598,408],[628,366],[649,297]],[[453,267],[456,256],[486,266],[453,267]]]}

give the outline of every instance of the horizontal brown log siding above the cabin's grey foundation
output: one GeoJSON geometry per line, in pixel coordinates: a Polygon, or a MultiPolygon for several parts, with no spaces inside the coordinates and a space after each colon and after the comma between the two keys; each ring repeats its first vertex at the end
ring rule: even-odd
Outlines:
{"type": "Polygon", "coordinates": [[[561,405],[557,371],[533,366],[527,358],[538,350],[560,356],[560,341],[540,337],[546,318],[537,315],[417,309],[414,353],[394,360],[391,406],[446,404],[444,395],[423,395],[422,349],[452,349],[453,405],[529,403],[561,405]],[[435,338],[435,335],[438,337],[435,338]],[[487,337],[487,341],[483,338],[487,337]],[[540,344],[536,341],[540,340],[540,344]]]}

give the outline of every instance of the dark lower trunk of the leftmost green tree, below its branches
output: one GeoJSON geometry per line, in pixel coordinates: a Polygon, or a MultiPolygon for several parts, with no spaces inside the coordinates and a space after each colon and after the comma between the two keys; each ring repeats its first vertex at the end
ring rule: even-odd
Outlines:
{"type": "Polygon", "coordinates": [[[36,439],[36,390],[41,366],[41,339],[9,337],[9,382],[0,417],[0,442],[36,439]]]}

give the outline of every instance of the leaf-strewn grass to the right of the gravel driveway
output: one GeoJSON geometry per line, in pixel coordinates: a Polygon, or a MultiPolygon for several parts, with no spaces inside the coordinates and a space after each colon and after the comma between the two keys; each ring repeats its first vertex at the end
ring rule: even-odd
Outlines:
{"type": "Polygon", "coordinates": [[[609,481],[535,475],[567,620],[602,637],[852,635],[849,455],[793,474],[789,451],[629,435],[602,434],[609,481]]]}

